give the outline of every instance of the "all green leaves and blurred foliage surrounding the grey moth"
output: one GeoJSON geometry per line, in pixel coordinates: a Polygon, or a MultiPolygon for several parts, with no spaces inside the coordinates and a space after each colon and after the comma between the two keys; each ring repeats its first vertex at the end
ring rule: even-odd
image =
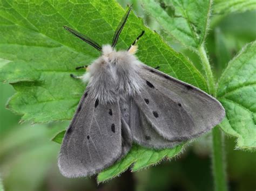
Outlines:
{"type": "MultiPolygon", "coordinates": [[[[255,153],[234,150],[253,151],[256,146],[256,45],[252,43],[256,39],[256,3],[247,2],[214,1],[211,6],[211,1],[133,1],[137,15],[144,19],[132,14],[117,45],[128,47],[145,30],[139,41],[140,60],[159,65],[163,72],[205,91],[217,89],[216,96],[227,113],[220,127],[227,137],[235,137],[226,139],[231,190],[255,189],[256,179],[255,153]],[[204,42],[218,87],[208,83],[207,68],[201,65],[204,42]]],[[[129,2],[119,3],[125,8],[129,2]]],[[[80,74],[76,66],[99,56],[95,49],[67,34],[62,25],[86,31],[106,44],[123,13],[115,1],[0,1],[0,80],[11,83],[16,91],[14,94],[8,84],[0,86],[0,175],[6,190],[96,189],[92,179],[69,180],[59,174],[59,145],[50,142],[54,135],[54,140],[61,142],[66,120],[72,117],[85,88],[69,74],[80,74]],[[12,94],[7,106],[22,115],[22,122],[64,122],[32,128],[29,123],[17,125],[19,117],[4,109],[12,94]]],[[[179,153],[182,145],[162,151],[134,145],[126,158],[100,173],[98,180],[112,178],[134,162],[132,170],[138,171],[179,153],[177,160],[126,172],[104,189],[121,189],[125,185],[122,182],[130,182],[136,190],[213,189],[209,144],[210,136],[206,135],[185,146],[184,154],[179,153]]]]}

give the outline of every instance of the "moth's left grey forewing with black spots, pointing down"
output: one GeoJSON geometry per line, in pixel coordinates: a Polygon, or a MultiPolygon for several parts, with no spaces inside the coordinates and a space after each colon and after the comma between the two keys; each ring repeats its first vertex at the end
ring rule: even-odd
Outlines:
{"type": "Polygon", "coordinates": [[[119,103],[103,105],[85,93],[60,148],[60,172],[90,176],[111,166],[122,154],[121,136],[119,103]]]}

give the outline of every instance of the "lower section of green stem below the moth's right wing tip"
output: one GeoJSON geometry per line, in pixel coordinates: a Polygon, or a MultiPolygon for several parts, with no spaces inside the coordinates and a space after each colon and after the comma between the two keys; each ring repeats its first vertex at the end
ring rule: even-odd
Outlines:
{"type": "Polygon", "coordinates": [[[224,137],[217,125],[212,130],[212,168],[215,191],[227,191],[224,137]]]}

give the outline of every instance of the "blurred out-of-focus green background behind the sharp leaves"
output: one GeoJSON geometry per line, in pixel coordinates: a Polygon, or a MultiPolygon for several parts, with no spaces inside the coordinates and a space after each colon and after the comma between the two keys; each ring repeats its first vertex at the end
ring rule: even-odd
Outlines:
{"type": "MultiPolygon", "coordinates": [[[[118,2],[123,7],[132,2],[135,12],[144,18],[147,26],[161,31],[159,25],[144,13],[139,1],[118,2]]],[[[213,16],[210,27],[206,47],[218,77],[241,47],[256,39],[256,11],[213,16]]],[[[165,32],[160,34],[201,70],[196,54],[173,42],[165,32]]],[[[19,116],[5,109],[14,89],[1,83],[0,92],[0,177],[5,190],[213,190],[211,135],[195,140],[176,159],[140,172],[127,171],[99,186],[96,177],[64,178],[57,167],[60,145],[51,142],[51,138],[65,129],[69,122],[19,124],[19,116]]],[[[225,153],[230,190],[255,190],[256,153],[235,150],[232,137],[225,137],[225,153]]]]}

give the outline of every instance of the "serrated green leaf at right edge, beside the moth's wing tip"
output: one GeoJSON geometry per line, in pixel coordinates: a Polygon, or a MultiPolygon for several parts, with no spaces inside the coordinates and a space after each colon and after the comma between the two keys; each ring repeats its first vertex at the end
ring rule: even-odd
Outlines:
{"type": "Polygon", "coordinates": [[[246,45],[228,63],[220,77],[218,100],[226,110],[220,124],[228,134],[238,137],[239,148],[256,147],[256,41],[246,45]]]}

